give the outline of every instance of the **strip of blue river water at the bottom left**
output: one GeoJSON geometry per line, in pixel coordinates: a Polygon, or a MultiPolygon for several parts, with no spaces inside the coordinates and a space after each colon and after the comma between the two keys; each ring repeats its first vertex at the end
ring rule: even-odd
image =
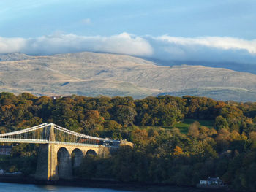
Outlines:
{"type": "Polygon", "coordinates": [[[55,185],[33,185],[33,184],[16,184],[0,183],[1,192],[127,192],[104,188],[80,188],[55,185]]]}

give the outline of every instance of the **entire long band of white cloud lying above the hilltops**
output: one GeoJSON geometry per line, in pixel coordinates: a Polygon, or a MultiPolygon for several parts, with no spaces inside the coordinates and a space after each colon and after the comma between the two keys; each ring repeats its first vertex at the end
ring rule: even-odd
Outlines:
{"type": "Polygon", "coordinates": [[[52,55],[80,51],[118,53],[162,60],[256,63],[256,39],[185,38],[167,35],[139,37],[127,33],[109,37],[61,33],[29,39],[0,37],[0,53],[52,55]]]}

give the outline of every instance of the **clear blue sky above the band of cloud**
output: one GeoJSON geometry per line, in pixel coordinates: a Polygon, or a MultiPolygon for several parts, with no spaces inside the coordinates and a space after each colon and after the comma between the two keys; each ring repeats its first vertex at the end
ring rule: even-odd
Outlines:
{"type": "Polygon", "coordinates": [[[169,34],[255,39],[256,1],[44,0],[0,1],[1,37],[169,34]],[[89,19],[90,22],[83,22],[89,19]]]}

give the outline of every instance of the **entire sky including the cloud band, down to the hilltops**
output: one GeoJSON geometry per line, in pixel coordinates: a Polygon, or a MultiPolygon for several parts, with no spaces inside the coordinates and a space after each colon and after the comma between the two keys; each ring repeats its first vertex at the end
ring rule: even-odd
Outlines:
{"type": "Polygon", "coordinates": [[[217,61],[255,63],[255,10],[255,0],[1,0],[0,53],[214,54],[217,61]]]}

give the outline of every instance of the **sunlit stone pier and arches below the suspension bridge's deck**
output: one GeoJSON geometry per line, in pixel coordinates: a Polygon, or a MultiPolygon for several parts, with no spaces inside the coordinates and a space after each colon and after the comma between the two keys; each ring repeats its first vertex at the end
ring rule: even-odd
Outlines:
{"type": "Polygon", "coordinates": [[[108,147],[104,145],[43,144],[39,150],[35,178],[49,181],[72,179],[73,168],[80,166],[85,155],[102,155],[105,150],[108,147]]]}

